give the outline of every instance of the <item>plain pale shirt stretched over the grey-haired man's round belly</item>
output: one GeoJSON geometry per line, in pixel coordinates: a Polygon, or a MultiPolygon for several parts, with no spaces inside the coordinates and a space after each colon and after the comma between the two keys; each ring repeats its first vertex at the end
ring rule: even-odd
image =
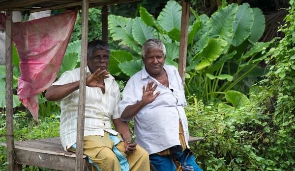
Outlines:
{"type": "MultiPolygon", "coordinates": [[[[181,145],[179,141],[179,116],[184,130],[185,143],[189,147],[187,118],[183,109],[187,104],[182,81],[175,67],[164,65],[164,70],[168,75],[169,87],[151,77],[144,67],[143,70],[129,79],[123,90],[123,98],[119,103],[122,113],[127,106],[142,99],[143,86],[147,86],[148,81],[154,80],[158,83],[154,94],[161,91],[160,95],[134,117],[136,142],[147,150],[148,154],[181,145]],[[173,89],[173,92],[171,89],[173,89]]],[[[121,118],[122,121],[130,121],[131,119],[123,120],[121,118]]]]}

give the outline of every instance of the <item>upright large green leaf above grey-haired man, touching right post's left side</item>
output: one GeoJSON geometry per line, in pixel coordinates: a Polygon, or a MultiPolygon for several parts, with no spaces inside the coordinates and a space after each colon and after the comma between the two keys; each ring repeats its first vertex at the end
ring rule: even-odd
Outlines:
{"type": "Polygon", "coordinates": [[[181,6],[174,0],[168,1],[165,8],[160,12],[157,22],[167,32],[175,27],[180,30],[181,6]]]}

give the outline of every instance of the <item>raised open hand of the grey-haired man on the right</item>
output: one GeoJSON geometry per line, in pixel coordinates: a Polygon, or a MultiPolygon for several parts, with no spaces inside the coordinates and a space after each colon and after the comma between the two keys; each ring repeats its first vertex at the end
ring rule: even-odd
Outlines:
{"type": "Polygon", "coordinates": [[[147,88],[143,86],[143,98],[142,98],[142,103],[144,105],[148,105],[149,103],[153,102],[158,95],[161,93],[158,91],[155,95],[153,94],[154,91],[156,90],[158,83],[153,86],[154,81],[148,81],[147,88]]]}

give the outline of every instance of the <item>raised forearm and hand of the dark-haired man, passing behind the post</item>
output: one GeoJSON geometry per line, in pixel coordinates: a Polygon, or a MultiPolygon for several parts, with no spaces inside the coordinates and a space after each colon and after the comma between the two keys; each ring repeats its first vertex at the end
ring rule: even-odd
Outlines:
{"type": "MultiPolygon", "coordinates": [[[[109,72],[103,70],[100,72],[100,69],[92,73],[87,77],[86,85],[89,87],[100,87],[103,88],[102,84],[99,84],[99,81],[108,78],[107,75],[109,72]]],[[[48,88],[45,93],[45,98],[50,101],[60,101],[63,98],[67,97],[74,91],[78,90],[80,86],[80,81],[72,82],[64,85],[54,85],[48,88]]]]}

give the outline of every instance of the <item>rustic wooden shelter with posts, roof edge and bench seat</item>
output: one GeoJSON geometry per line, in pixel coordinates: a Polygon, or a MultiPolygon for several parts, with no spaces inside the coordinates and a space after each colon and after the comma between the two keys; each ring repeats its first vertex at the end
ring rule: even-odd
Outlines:
{"type": "MultiPolygon", "coordinates": [[[[6,147],[8,171],[22,171],[22,165],[45,167],[63,171],[90,171],[91,167],[83,155],[86,66],[88,44],[88,9],[103,6],[107,11],[108,5],[136,0],[0,0],[0,11],[6,11],[6,147]],[[13,107],[12,107],[12,11],[38,12],[44,10],[74,8],[82,9],[82,41],[81,68],[79,87],[79,108],[77,125],[77,152],[66,152],[59,137],[38,139],[33,141],[13,141],[13,107]]],[[[180,31],[180,49],[178,71],[184,83],[185,62],[187,50],[189,4],[182,0],[182,18],[180,31]]],[[[102,14],[102,39],[108,41],[108,13],[102,14]]],[[[190,142],[200,141],[202,138],[190,137],[190,142]]]]}

